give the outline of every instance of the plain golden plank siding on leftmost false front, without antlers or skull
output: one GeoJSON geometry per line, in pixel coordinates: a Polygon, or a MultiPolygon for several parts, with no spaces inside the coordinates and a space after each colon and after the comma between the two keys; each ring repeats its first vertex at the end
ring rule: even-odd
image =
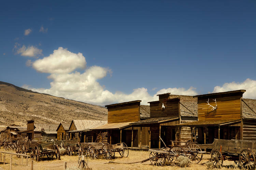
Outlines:
{"type": "Polygon", "coordinates": [[[140,120],[140,107],[136,105],[108,107],[108,123],[135,122],[140,120]]]}

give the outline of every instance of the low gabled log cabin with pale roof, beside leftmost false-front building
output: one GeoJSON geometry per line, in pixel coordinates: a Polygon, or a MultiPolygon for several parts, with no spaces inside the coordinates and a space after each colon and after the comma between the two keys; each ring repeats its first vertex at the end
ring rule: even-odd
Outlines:
{"type": "Polygon", "coordinates": [[[103,120],[72,120],[69,131],[67,131],[70,140],[80,140],[80,142],[94,141],[96,134],[90,131],[90,128],[104,125],[107,121],[103,120]]]}

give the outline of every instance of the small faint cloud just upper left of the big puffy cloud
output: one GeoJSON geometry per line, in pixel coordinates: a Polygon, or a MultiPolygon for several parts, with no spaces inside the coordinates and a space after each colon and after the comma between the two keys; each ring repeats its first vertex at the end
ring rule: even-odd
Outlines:
{"type": "MultiPolygon", "coordinates": [[[[17,45],[15,44],[14,49],[17,48],[17,45]]],[[[20,54],[22,56],[29,56],[29,57],[34,57],[34,56],[38,56],[38,55],[42,55],[42,51],[34,46],[28,46],[28,48],[26,48],[25,45],[22,46],[22,48],[17,50],[17,54],[20,54]]]]}

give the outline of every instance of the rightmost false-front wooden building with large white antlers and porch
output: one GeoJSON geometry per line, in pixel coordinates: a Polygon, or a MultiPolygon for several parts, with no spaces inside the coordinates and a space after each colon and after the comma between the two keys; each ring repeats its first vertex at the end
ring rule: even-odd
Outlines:
{"type": "Polygon", "coordinates": [[[178,124],[178,128],[197,129],[196,141],[212,143],[217,139],[256,140],[256,100],[243,99],[246,90],[195,96],[198,121],[178,124]]]}

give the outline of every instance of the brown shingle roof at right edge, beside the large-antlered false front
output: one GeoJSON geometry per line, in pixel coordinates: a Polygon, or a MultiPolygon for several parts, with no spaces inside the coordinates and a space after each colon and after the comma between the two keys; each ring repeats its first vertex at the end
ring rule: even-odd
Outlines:
{"type": "Polygon", "coordinates": [[[256,119],[256,100],[255,99],[242,99],[243,118],[256,119]]]}

